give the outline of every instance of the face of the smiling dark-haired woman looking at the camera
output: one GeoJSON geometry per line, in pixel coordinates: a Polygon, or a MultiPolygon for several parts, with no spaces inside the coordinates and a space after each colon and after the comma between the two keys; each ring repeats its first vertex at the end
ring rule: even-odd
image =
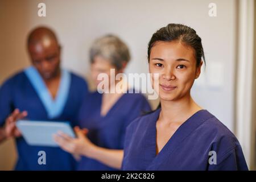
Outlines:
{"type": "MultiPolygon", "coordinates": [[[[156,42],[151,48],[150,73],[159,73],[159,97],[166,101],[189,96],[194,80],[199,77],[201,64],[196,66],[193,48],[178,41],[156,42]]],[[[154,85],[154,77],[152,85],[154,85]]]]}

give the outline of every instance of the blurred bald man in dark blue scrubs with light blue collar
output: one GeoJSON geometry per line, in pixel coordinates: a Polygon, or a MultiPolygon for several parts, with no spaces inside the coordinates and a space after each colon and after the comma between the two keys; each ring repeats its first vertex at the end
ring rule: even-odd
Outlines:
{"type": "Polygon", "coordinates": [[[69,121],[88,94],[84,79],[60,67],[61,47],[52,30],[38,27],[27,39],[32,66],[7,79],[0,88],[0,142],[14,137],[18,151],[16,170],[72,170],[76,162],[59,147],[30,146],[15,122],[26,118],[69,121]],[[38,152],[46,152],[46,164],[38,163],[38,152]]]}

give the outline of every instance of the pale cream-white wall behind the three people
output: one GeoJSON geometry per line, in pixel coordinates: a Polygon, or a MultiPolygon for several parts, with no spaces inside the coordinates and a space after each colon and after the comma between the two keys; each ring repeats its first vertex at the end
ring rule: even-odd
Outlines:
{"type": "MultiPolygon", "coordinates": [[[[195,28],[203,39],[207,68],[200,80],[196,81],[192,95],[201,106],[216,115],[230,130],[234,130],[236,1],[214,0],[217,17],[208,15],[208,5],[213,2],[208,0],[11,2],[7,3],[11,5],[8,9],[18,9],[17,20],[20,16],[26,19],[27,26],[22,31],[28,32],[41,24],[52,27],[63,45],[63,66],[88,78],[88,49],[98,36],[108,33],[119,35],[131,49],[132,60],[127,72],[143,73],[148,71],[147,43],[158,28],[168,23],[183,23],[195,28]],[[38,16],[40,2],[46,3],[46,17],[38,16]],[[216,65],[220,69],[214,68],[216,65]]],[[[15,11],[13,13],[15,15],[15,11]]],[[[9,23],[16,24],[17,20],[9,23]]],[[[22,26],[23,22],[20,21],[19,26],[22,26]]],[[[16,31],[6,32],[7,36],[18,35],[19,26],[15,26],[16,31]]],[[[18,39],[12,39],[11,43],[25,45],[25,41],[26,36],[22,33],[18,39]]],[[[11,59],[8,56],[5,59],[1,57],[1,65],[6,64],[6,61],[14,65],[19,60],[24,63],[20,68],[27,65],[26,52],[16,53],[11,47],[6,51],[6,55],[9,53],[16,56],[11,59]]],[[[26,49],[22,48],[22,51],[26,49]]],[[[7,77],[13,73],[13,69],[3,73],[1,77],[7,77]]],[[[152,104],[155,106],[157,103],[152,104]]]]}

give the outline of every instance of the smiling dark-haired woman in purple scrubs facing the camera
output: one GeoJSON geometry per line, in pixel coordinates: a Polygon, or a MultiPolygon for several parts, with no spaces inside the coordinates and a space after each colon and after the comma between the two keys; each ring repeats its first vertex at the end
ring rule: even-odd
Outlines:
{"type": "Polygon", "coordinates": [[[158,73],[160,106],[126,130],[124,170],[247,170],[233,133],[193,101],[204,51],[196,31],[168,24],[148,43],[150,73],[158,73]]]}

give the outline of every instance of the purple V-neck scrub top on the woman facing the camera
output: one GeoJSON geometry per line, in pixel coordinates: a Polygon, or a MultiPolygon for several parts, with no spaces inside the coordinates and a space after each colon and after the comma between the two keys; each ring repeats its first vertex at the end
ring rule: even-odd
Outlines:
{"type": "Polygon", "coordinates": [[[123,170],[248,170],[237,138],[207,110],[185,121],[156,155],[159,113],[139,117],[127,127],[123,170]]]}

